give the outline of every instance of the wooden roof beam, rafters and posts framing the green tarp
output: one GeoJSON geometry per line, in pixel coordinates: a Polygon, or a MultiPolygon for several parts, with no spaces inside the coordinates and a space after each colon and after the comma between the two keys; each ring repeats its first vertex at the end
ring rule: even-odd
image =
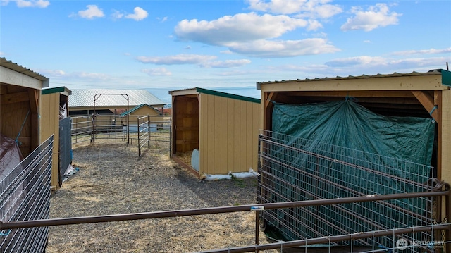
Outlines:
{"type": "Polygon", "coordinates": [[[437,123],[431,166],[436,177],[451,183],[451,72],[393,73],[335,78],[257,82],[261,128],[272,130],[273,102],[309,104],[352,97],[383,116],[432,118],[437,123]]]}

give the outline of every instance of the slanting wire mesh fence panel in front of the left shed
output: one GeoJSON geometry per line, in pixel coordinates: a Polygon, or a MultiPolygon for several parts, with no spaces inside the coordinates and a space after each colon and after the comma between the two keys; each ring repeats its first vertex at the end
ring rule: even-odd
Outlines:
{"type": "MultiPolygon", "coordinates": [[[[0,220],[49,218],[53,135],[0,181],[0,220]]],[[[0,252],[44,252],[48,228],[0,231],[0,252]]]]}

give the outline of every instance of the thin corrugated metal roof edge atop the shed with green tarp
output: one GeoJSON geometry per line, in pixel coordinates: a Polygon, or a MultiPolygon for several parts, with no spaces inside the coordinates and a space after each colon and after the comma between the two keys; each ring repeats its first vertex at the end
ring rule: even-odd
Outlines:
{"type": "Polygon", "coordinates": [[[264,84],[274,84],[281,82],[311,82],[311,81],[324,81],[324,80],[346,80],[346,79],[364,79],[364,78],[393,78],[402,76],[419,76],[419,75],[441,75],[441,69],[429,70],[428,72],[412,72],[412,73],[393,73],[393,74],[377,74],[377,75],[348,75],[347,77],[336,76],[335,78],[313,78],[313,79],[297,79],[297,80],[280,80],[280,81],[268,81],[268,82],[257,82],[257,89],[259,85],[264,84]]]}

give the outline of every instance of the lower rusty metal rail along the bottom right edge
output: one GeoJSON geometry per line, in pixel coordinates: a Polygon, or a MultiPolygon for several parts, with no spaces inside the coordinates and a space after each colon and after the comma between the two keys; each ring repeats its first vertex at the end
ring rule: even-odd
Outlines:
{"type": "MultiPolygon", "coordinates": [[[[268,250],[268,249],[281,249],[281,248],[290,248],[290,247],[302,247],[307,245],[316,245],[321,243],[330,243],[330,242],[340,242],[345,240],[358,240],[369,237],[381,237],[388,235],[400,235],[405,233],[416,233],[416,232],[426,232],[433,230],[449,230],[451,224],[439,224],[439,225],[429,225],[429,226],[420,226],[420,227],[412,227],[412,228],[397,228],[393,230],[377,230],[370,232],[362,232],[362,233],[354,233],[350,235],[334,235],[330,237],[319,237],[305,240],[295,240],[290,242],[275,242],[269,243],[266,245],[254,245],[254,246],[245,246],[245,247],[233,247],[228,249],[214,249],[209,251],[203,251],[202,253],[240,253],[240,252],[253,252],[257,250],[268,250]]],[[[449,243],[447,243],[449,245],[449,243]]]]}

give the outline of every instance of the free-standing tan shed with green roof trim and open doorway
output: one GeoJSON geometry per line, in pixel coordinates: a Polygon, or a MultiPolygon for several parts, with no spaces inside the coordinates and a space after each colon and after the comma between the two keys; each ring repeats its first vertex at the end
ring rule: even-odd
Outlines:
{"type": "Polygon", "coordinates": [[[199,87],[169,94],[174,161],[200,178],[257,170],[260,99],[199,87]]]}

